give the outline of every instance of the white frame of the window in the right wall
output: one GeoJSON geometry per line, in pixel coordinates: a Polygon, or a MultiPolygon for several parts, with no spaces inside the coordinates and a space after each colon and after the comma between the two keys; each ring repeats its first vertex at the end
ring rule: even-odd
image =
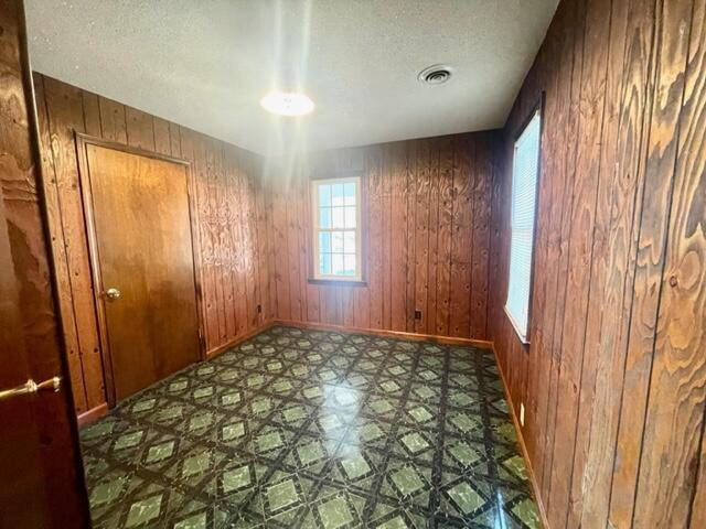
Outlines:
{"type": "Polygon", "coordinates": [[[505,310],[505,314],[507,314],[507,317],[510,319],[510,323],[512,324],[512,326],[515,328],[515,332],[517,333],[517,335],[520,336],[520,339],[522,341],[523,344],[528,344],[530,343],[530,325],[531,325],[531,317],[532,317],[532,313],[531,313],[531,303],[532,303],[532,290],[533,290],[533,282],[534,282],[534,239],[535,239],[535,234],[536,234],[536,228],[537,228],[537,204],[538,204],[538,190],[539,190],[539,177],[541,177],[541,172],[542,172],[542,168],[541,168],[541,161],[542,159],[542,112],[541,109],[537,108],[532,116],[530,117],[530,119],[527,119],[527,121],[525,122],[524,127],[522,128],[522,131],[520,132],[520,134],[517,136],[515,142],[514,142],[514,148],[513,148],[513,163],[512,163],[512,187],[511,187],[511,199],[510,199],[510,252],[509,252],[509,258],[510,258],[510,263],[507,267],[507,295],[505,298],[505,304],[504,304],[504,310],[505,310]],[[532,247],[531,247],[531,253],[530,253],[530,283],[527,285],[527,299],[524,301],[524,303],[526,304],[524,310],[526,311],[526,321],[525,321],[525,328],[522,328],[522,324],[520,322],[517,322],[517,319],[513,316],[512,310],[509,306],[510,303],[510,294],[511,294],[511,289],[512,289],[512,251],[513,251],[513,247],[512,247],[512,230],[513,230],[513,222],[514,222],[514,206],[515,206],[515,177],[516,177],[516,163],[517,163],[517,145],[521,142],[523,134],[527,131],[527,129],[530,128],[530,126],[532,126],[533,123],[535,123],[535,120],[537,121],[537,127],[538,127],[538,137],[537,137],[537,160],[536,160],[536,172],[535,172],[535,181],[534,181],[534,212],[533,212],[533,216],[532,216],[532,247]]]}

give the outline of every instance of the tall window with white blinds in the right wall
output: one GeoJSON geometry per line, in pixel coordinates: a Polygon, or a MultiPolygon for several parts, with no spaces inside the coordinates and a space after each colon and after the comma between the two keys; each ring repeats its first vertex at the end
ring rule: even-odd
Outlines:
{"type": "Polygon", "coordinates": [[[539,139],[541,117],[537,110],[515,141],[512,165],[510,280],[505,311],[525,343],[530,319],[539,139]]]}

